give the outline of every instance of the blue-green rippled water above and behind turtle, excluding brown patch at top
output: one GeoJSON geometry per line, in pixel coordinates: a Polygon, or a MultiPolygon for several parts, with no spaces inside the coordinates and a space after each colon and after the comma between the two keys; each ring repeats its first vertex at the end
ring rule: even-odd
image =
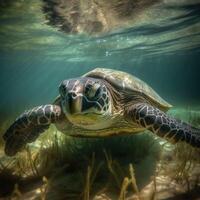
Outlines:
{"type": "Polygon", "coordinates": [[[95,67],[134,74],[175,106],[199,105],[198,1],[166,1],[137,23],[100,36],[47,25],[39,0],[18,0],[0,13],[2,116],[52,102],[63,79],[95,67]]]}

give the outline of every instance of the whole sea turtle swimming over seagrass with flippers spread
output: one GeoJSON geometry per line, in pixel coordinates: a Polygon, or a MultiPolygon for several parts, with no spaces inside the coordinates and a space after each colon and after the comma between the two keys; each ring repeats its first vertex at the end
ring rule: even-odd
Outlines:
{"type": "Polygon", "coordinates": [[[200,130],[166,114],[172,106],[150,86],[125,72],[96,68],[64,80],[53,104],[22,113],[3,135],[14,156],[54,123],[74,137],[106,137],[149,130],[173,142],[200,147],[200,130]]]}

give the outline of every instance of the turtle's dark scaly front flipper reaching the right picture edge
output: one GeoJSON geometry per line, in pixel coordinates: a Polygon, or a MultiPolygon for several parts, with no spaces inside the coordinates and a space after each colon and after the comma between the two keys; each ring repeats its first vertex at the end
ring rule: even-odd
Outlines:
{"type": "Polygon", "coordinates": [[[127,109],[126,117],[128,121],[137,123],[171,142],[185,141],[200,148],[200,129],[174,119],[151,105],[136,104],[127,109]]]}

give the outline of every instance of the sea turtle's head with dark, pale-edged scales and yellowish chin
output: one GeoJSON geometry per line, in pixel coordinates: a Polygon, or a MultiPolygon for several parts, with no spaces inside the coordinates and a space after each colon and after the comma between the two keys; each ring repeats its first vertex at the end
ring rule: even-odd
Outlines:
{"type": "Polygon", "coordinates": [[[94,130],[108,126],[111,95],[101,79],[64,80],[59,92],[63,112],[72,124],[94,130]]]}

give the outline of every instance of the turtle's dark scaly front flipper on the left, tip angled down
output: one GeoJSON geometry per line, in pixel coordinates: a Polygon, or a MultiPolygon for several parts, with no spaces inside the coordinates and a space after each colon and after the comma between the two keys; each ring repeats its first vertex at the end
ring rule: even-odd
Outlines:
{"type": "Polygon", "coordinates": [[[40,133],[61,116],[58,105],[43,105],[22,113],[3,135],[5,153],[14,156],[26,143],[36,140],[40,133]]]}

